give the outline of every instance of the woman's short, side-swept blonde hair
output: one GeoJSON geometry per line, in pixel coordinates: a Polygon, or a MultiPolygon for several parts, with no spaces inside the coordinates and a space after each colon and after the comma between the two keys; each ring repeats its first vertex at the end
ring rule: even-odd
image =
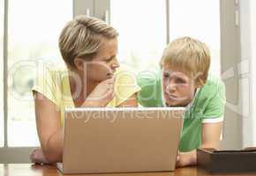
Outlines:
{"type": "Polygon", "coordinates": [[[105,40],[117,38],[117,31],[98,18],[78,16],[68,22],[59,37],[59,48],[68,67],[76,57],[90,61],[105,40]]]}

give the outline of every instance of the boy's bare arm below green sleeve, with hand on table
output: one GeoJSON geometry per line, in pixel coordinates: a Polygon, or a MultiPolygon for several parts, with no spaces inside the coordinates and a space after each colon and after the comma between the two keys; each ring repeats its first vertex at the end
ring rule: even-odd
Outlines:
{"type": "MultiPolygon", "coordinates": [[[[200,148],[219,149],[222,134],[222,122],[202,123],[200,148]]],[[[177,155],[177,167],[197,165],[197,150],[180,152],[177,155]]]]}

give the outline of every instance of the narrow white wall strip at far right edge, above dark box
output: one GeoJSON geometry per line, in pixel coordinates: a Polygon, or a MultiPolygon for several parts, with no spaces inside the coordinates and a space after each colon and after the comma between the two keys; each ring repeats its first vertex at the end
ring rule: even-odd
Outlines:
{"type": "Polygon", "coordinates": [[[240,0],[241,62],[240,93],[242,95],[243,147],[256,146],[256,1],[240,0]],[[254,9],[254,10],[252,10],[254,9]]]}

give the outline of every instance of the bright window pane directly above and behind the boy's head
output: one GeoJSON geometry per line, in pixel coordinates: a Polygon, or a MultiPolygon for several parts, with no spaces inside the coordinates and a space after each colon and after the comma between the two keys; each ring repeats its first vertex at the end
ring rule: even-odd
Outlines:
{"type": "Polygon", "coordinates": [[[190,36],[210,48],[210,72],[220,76],[220,2],[204,0],[169,0],[169,39],[190,36]]]}

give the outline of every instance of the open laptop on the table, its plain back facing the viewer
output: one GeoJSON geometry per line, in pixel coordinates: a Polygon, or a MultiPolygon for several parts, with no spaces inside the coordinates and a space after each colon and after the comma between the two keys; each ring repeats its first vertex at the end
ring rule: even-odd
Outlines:
{"type": "Polygon", "coordinates": [[[65,110],[64,174],[174,171],[183,107],[65,110]]]}

